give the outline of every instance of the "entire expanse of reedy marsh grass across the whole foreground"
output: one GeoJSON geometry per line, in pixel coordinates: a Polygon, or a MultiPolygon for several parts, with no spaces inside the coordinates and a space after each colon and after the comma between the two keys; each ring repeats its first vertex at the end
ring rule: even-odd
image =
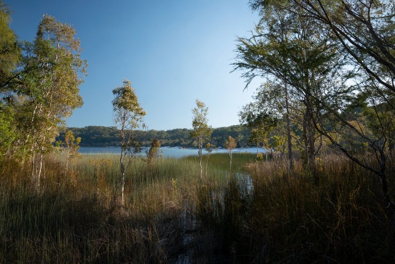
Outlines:
{"type": "Polygon", "coordinates": [[[317,161],[317,175],[296,163],[290,179],[286,164],[256,166],[254,154],[235,153],[229,172],[229,156],[212,154],[204,180],[195,156],[151,166],[137,158],[124,206],[114,200],[118,158],[83,155],[65,175],[64,157],[48,156],[40,190],[28,167],[3,161],[0,262],[395,262],[380,183],[336,156],[317,161]],[[240,172],[254,183],[247,194],[240,172]]]}

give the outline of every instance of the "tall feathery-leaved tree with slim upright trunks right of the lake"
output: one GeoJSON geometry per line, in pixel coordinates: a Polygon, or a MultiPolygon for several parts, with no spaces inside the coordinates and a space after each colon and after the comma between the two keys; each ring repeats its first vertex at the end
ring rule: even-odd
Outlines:
{"type": "Polygon", "coordinates": [[[256,76],[261,76],[283,87],[290,155],[289,101],[300,102],[304,168],[317,177],[315,156],[321,145],[320,141],[316,145],[319,136],[316,135],[314,120],[324,118],[327,111],[335,109],[336,104],[350,93],[349,87],[344,85],[347,77],[342,76],[343,71],[340,71],[345,63],[344,55],[336,41],[322,33],[303,14],[279,8],[277,2],[259,3],[262,4],[259,8],[262,19],[252,38],[239,38],[236,69],[245,71],[243,77],[247,79],[247,85],[256,76]],[[325,102],[328,110],[323,110],[316,99],[325,102]]]}

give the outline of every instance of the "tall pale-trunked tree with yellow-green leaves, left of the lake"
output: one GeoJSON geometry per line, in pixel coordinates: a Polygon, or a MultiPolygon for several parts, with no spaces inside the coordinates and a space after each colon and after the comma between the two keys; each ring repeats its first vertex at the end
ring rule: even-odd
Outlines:
{"type": "Polygon", "coordinates": [[[58,127],[83,104],[79,86],[87,63],[80,58],[82,50],[75,34],[70,25],[44,15],[34,42],[24,43],[23,70],[14,87],[21,101],[17,131],[37,187],[44,154],[51,150],[58,127]]]}

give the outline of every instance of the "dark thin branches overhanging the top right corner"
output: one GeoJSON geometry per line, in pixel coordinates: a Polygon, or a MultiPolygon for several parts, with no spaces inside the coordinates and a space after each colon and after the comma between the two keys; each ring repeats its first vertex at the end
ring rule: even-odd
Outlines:
{"type": "MultiPolygon", "coordinates": [[[[262,10],[266,1],[251,1],[254,9],[262,10]]],[[[353,62],[379,83],[378,91],[386,98],[386,90],[395,93],[395,28],[394,2],[381,0],[278,1],[277,6],[301,13],[332,35],[345,49],[353,62]],[[290,4],[292,6],[290,8],[290,4]]]]}

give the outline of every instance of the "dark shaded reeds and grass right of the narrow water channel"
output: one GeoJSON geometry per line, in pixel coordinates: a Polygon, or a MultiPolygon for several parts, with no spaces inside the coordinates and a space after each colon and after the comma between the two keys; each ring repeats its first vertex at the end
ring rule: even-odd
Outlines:
{"type": "Polygon", "coordinates": [[[316,184],[314,175],[295,167],[289,178],[286,166],[273,171],[272,164],[250,164],[249,197],[236,180],[223,190],[204,190],[223,193],[220,210],[207,206],[213,201],[200,210],[207,232],[221,238],[210,254],[231,252],[238,263],[395,262],[395,218],[375,175],[329,156],[319,164],[316,184]]]}

